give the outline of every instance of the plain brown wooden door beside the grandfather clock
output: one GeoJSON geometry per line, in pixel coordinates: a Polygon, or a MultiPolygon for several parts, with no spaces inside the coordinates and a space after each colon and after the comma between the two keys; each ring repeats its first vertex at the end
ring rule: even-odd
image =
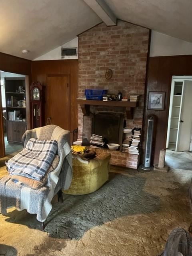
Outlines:
{"type": "Polygon", "coordinates": [[[47,76],[45,92],[45,124],[51,118],[65,130],[70,130],[70,75],[50,74],[47,76]]]}

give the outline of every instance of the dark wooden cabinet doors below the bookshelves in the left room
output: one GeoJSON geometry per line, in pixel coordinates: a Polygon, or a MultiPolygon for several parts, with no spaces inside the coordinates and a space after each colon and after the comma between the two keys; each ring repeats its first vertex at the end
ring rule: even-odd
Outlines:
{"type": "Polygon", "coordinates": [[[7,121],[7,140],[22,143],[21,138],[26,131],[26,122],[7,121]]]}

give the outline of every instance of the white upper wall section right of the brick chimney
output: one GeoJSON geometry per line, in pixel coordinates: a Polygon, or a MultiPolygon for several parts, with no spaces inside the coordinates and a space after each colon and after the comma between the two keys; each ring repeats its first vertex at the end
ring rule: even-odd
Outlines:
{"type": "Polygon", "coordinates": [[[192,43],[152,30],[150,57],[188,54],[192,54],[192,43]]]}

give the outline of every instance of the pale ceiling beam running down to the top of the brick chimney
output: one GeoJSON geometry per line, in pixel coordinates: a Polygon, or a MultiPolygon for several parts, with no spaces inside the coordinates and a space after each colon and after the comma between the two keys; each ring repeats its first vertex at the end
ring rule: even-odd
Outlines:
{"type": "Polygon", "coordinates": [[[117,18],[104,0],[84,0],[107,26],[116,26],[117,18]]]}

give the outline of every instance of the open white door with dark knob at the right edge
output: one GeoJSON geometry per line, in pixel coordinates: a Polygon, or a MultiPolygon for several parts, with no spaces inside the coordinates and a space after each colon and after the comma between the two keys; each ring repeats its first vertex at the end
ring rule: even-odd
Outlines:
{"type": "Polygon", "coordinates": [[[192,81],[184,80],[176,152],[189,150],[192,126],[192,81]]]}

